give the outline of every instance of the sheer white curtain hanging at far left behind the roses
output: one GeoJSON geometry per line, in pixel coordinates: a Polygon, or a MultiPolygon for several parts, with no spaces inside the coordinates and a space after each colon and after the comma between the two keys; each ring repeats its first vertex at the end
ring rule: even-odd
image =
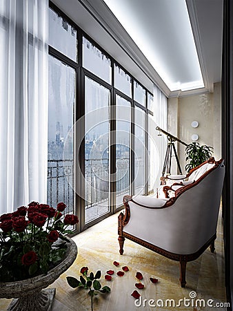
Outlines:
{"type": "Polygon", "coordinates": [[[0,214],[46,202],[48,0],[0,1],[0,214]]]}

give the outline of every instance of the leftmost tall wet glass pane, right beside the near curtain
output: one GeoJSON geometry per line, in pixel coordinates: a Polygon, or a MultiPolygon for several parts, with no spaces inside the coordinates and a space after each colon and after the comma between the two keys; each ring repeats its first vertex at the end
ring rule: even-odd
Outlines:
{"type": "Polygon", "coordinates": [[[75,70],[49,56],[48,204],[74,213],[75,70]]]}

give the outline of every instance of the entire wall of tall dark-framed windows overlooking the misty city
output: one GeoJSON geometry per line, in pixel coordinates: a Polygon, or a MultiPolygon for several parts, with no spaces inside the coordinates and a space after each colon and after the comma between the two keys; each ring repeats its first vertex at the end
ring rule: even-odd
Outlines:
{"type": "Polygon", "coordinates": [[[153,96],[51,6],[48,203],[64,201],[82,230],[121,208],[124,195],[152,190],[153,96]]]}

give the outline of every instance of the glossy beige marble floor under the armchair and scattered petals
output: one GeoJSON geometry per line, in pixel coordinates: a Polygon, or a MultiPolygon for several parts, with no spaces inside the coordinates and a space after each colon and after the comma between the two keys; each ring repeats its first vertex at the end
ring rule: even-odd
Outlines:
{"type": "MultiPolygon", "coordinates": [[[[210,249],[207,249],[196,261],[187,264],[186,288],[181,288],[179,284],[179,263],[128,240],[125,240],[123,256],[119,254],[117,216],[118,214],[110,216],[73,238],[78,245],[79,253],[74,264],[50,286],[57,288],[52,311],[91,310],[88,291],[70,288],[65,279],[66,276],[79,277],[80,268],[83,266],[88,266],[93,272],[101,270],[103,276],[107,270],[115,272],[112,281],[105,281],[103,276],[101,278],[102,285],[110,286],[111,292],[105,295],[98,294],[94,299],[96,311],[226,310],[216,306],[217,303],[226,302],[221,216],[216,252],[212,254],[210,249]],[[120,266],[115,267],[113,261],[119,261],[120,266]],[[122,277],[117,276],[117,271],[121,270],[123,265],[127,265],[130,271],[125,272],[122,277]],[[131,296],[136,290],[134,284],[137,283],[135,278],[137,271],[143,274],[141,282],[145,285],[143,290],[138,290],[142,297],[141,306],[138,306],[140,301],[135,305],[135,299],[131,296]],[[150,277],[159,279],[159,282],[152,284],[150,277]],[[190,299],[190,292],[194,296],[196,294],[196,299],[203,299],[197,303],[197,306],[195,306],[196,300],[190,299]],[[147,301],[143,306],[144,299],[147,301]],[[183,299],[180,301],[180,306],[177,305],[179,299],[183,299]],[[215,308],[207,306],[207,303],[212,303],[215,308]]],[[[9,303],[10,300],[1,299],[0,310],[7,310],[9,303]]]]}

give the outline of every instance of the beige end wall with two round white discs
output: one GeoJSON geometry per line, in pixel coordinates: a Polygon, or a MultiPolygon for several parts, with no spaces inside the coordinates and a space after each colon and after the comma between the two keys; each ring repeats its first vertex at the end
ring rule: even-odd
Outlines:
{"type": "MultiPolygon", "coordinates": [[[[214,84],[214,93],[176,97],[168,100],[168,132],[187,144],[192,142],[192,134],[199,135],[199,144],[214,147],[213,156],[221,158],[221,83],[214,84]],[[198,121],[194,129],[192,121],[198,121]]],[[[177,152],[184,173],[185,146],[177,144],[177,152]]],[[[173,159],[172,173],[176,173],[173,159]]]]}

